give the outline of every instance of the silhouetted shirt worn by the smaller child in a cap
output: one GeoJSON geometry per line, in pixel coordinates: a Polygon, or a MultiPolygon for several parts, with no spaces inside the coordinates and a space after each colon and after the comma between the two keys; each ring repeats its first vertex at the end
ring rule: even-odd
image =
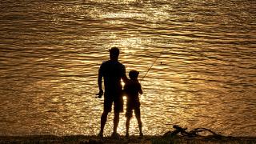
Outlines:
{"type": "Polygon", "coordinates": [[[129,80],[124,86],[128,101],[139,102],[138,94],[142,93],[142,86],[138,80],[129,80]]]}

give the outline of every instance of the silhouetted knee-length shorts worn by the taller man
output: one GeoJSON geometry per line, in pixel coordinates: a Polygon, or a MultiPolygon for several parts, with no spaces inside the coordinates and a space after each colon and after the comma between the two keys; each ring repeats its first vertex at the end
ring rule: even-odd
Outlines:
{"type": "Polygon", "coordinates": [[[111,112],[113,102],[114,102],[114,112],[118,112],[118,113],[123,112],[123,99],[121,96],[118,98],[105,97],[104,111],[111,112]]]}

